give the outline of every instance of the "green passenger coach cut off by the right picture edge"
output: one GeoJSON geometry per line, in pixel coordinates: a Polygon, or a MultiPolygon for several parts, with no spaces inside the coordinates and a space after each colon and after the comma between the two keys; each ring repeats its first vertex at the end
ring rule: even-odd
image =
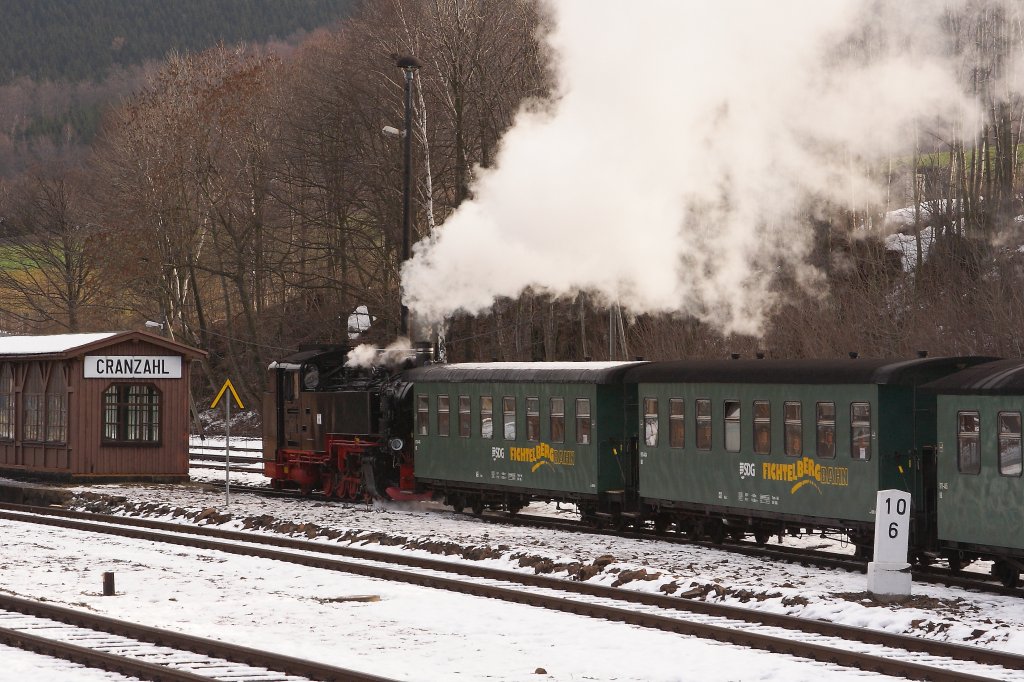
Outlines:
{"type": "Polygon", "coordinates": [[[1024,570],[1021,414],[1024,360],[973,367],[929,384],[938,402],[938,542],[955,572],[991,559],[1016,586],[1024,570]]]}

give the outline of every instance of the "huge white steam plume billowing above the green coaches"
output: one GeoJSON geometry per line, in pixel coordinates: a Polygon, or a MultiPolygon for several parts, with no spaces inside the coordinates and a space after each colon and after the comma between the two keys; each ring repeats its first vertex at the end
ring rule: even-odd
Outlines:
{"type": "Polygon", "coordinates": [[[555,97],[416,245],[402,290],[422,318],[586,290],[758,333],[777,264],[813,276],[804,216],[870,198],[850,151],[975,125],[934,0],[547,4],[555,97]]]}

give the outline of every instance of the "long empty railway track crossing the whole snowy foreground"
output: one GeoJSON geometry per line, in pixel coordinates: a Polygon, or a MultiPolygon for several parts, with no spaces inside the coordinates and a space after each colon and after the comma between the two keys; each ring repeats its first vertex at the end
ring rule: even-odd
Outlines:
{"type": "Polygon", "coordinates": [[[0,510],[0,518],[8,520],[290,561],[624,622],[908,679],[1024,680],[1024,657],[1015,654],[680,597],[206,526],[52,508],[2,505],[0,510]]]}

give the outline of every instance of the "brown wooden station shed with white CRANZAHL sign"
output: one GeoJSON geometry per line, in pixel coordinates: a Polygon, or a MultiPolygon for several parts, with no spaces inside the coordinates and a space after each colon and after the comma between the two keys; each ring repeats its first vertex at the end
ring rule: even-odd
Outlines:
{"type": "Polygon", "coordinates": [[[0,337],[0,475],[188,480],[205,354],[144,332],[0,337]]]}

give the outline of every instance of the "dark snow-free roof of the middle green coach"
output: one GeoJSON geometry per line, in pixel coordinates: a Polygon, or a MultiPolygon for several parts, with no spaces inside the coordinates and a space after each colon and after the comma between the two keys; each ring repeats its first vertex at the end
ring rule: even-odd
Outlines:
{"type": "Polygon", "coordinates": [[[988,358],[735,359],[650,363],[627,372],[627,383],[916,384],[988,358]]]}

